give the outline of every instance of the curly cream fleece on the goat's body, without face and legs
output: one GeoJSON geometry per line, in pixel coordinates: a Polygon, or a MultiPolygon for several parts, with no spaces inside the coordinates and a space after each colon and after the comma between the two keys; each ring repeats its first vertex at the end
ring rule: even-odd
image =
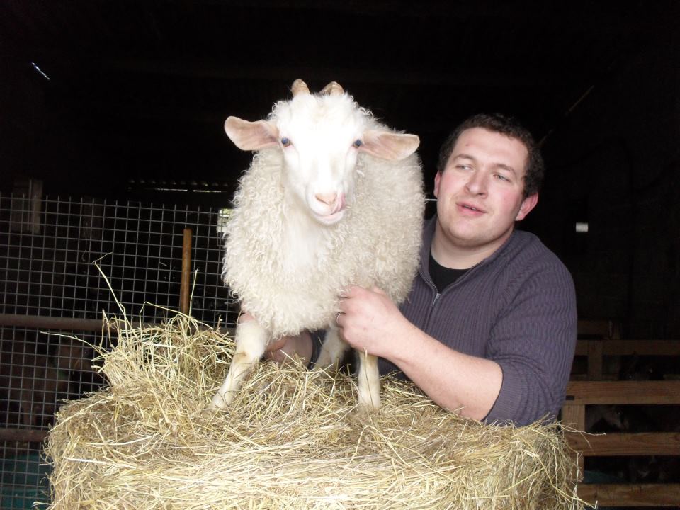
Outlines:
{"type": "MultiPolygon", "coordinates": [[[[388,130],[341,96],[365,117],[366,127],[388,130]]],[[[276,119],[279,103],[270,115],[276,119]]],[[[337,297],[346,285],[376,285],[402,302],[418,264],[424,210],[421,165],[416,154],[385,161],[360,154],[355,200],[346,216],[324,230],[315,263],[285,261],[283,156],[278,148],[254,155],[234,198],[227,226],[224,277],[232,292],[273,338],[320,329],[334,322],[337,297]]]]}

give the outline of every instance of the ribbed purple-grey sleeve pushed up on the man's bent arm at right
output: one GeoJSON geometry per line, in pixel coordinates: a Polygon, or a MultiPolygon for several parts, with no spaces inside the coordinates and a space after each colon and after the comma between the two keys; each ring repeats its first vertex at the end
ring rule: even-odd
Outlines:
{"type": "Polygon", "coordinates": [[[529,424],[554,419],[565,399],[577,311],[572,277],[543,244],[525,248],[526,263],[504,289],[502,312],[490,331],[485,357],[503,370],[487,421],[529,424]]]}

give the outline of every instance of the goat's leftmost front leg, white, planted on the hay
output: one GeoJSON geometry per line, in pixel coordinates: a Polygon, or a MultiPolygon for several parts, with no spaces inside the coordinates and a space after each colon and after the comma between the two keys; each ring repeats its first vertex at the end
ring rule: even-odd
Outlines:
{"type": "Polygon", "coordinates": [[[232,403],[244,378],[263,355],[268,339],[268,332],[256,320],[237,324],[236,351],[232,365],[229,367],[225,382],[222,382],[215,397],[212,397],[212,407],[222,409],[232,403]]]}

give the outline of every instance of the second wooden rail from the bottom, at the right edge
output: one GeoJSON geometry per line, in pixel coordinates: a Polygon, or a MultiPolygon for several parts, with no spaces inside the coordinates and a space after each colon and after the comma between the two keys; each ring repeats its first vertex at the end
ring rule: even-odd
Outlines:
{"type": "Polygon", "coordinates": [[[567,441],[586,457],[680,455],[680,433],[638,432],[582,434],[567,432],[567,441]]]}

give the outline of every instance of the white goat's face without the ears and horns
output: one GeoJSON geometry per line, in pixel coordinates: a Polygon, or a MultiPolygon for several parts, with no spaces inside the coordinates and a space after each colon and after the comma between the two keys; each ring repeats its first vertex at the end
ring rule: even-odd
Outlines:
{"type": "Polygon", "coordinates": [[[348,96],[293,98],[278,112],[276,126],[288,193],[315,220],[342,220],[354,198],[363,113],[348,96]]]}

